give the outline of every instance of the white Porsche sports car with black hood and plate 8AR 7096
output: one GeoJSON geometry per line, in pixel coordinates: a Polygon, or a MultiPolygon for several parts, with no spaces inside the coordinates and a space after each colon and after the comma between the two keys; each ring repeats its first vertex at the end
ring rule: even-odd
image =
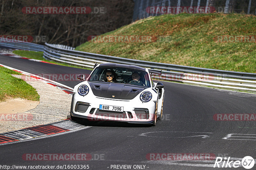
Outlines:
{"type": "Polygon", "coordinates": [[[116,63],[95,64],[89,77],[77,76],[70,117],[153,124],[162,120],[164,85],[151,74],[162,71],[116,63]]]}

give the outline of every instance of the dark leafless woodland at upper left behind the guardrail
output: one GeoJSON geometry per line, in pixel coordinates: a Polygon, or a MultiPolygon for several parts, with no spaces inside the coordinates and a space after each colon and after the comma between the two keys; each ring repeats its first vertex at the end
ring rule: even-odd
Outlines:
{"type": "Polygon", "coordinates": [[[100,35],[130,24],[133,6],[132,0],[0,0],[0,35],[44,35],[49,37],[49,43],[78,46],[86,42],[90,35],[100,35]],[[103,13],[90,14],[21,12],[23,7],[31,6],[86,6],[96,11],[100,7],[104,9],[103,13]]]}

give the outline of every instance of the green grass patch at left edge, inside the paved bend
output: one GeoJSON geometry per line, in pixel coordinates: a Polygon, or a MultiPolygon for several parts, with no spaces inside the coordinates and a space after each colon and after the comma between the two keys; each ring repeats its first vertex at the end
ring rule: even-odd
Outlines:
{"type": "Polygon", "coordinates": [[[36,89],[22,79],[13,77],[11,74],[21,75],[16,71],[0,67],[0,102],[5,101],[8,97],[20,97],[27,100],[39,101],[40,96],[36,92],[36,89]]]}

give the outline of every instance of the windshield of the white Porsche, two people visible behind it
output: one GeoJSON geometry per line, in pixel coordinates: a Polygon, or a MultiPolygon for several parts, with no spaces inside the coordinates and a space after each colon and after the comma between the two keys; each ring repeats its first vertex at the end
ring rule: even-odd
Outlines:
{"type": "Polygon", "coordinates": [[[97,67],[88,78],[88,81],[128,83],[150,87],[150,81],[146,71],[124,67],[97,67]]]}

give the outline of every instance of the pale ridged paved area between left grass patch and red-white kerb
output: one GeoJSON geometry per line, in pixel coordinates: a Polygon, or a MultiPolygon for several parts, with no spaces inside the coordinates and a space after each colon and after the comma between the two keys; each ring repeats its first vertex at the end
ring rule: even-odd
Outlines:
{"type": "Polygon", "coordinates": [[[24,75],[12,76],[22,78],[35,88],[40,96],[40,103],[36,108],[25,112],[1,114],[0,133],[49,124],[70,117],[72,96],[44,81],[32,77],[26,79],[24,75]]]}

